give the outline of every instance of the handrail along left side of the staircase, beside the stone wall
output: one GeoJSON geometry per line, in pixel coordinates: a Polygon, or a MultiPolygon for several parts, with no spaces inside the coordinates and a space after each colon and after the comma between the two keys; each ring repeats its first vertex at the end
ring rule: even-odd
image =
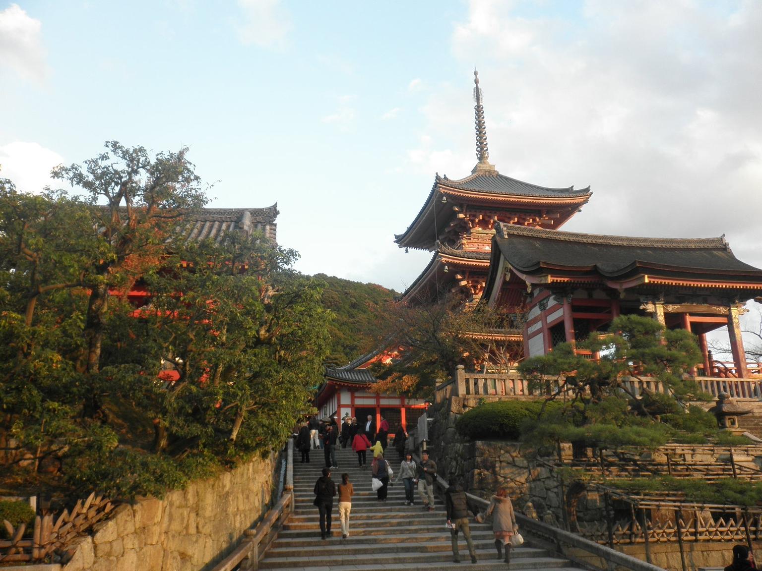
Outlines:
{"type": "Polygon", "coordinates": [[[277,536],[281,525],[293,512],[293,439],[286,442],[286,483],[283,495],[255,528],[247,529],[239,547],[217,563],[212,571],[234,571],[248,558],[247,569],[259,569],[259,557],[277,536]]]}

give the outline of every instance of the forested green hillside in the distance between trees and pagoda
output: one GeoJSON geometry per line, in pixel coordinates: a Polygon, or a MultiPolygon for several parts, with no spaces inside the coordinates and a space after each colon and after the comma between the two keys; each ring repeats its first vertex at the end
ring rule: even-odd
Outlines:
{"type": "Polygon", "coordinates": [[[374,349],[376,317],[371,308],[392,300],[397,292],[375,283],[352,282],[323,273],[315,275],[315,279],[325,282],[323,305],[336,314],[328,327],[331,346],[326,364],[346,365],[374,349]]]}

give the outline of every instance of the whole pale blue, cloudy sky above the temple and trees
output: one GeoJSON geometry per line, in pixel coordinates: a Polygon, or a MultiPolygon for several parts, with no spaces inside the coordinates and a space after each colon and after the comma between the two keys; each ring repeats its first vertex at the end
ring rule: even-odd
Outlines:
{"type": "Polygon", "coordinates": [[[210,206],[277,203],[297,269],[403,291],[434,174],[591,186],[564,229],[725,234],[762,267],[762,2],[5,3],[0,164],[21,190],[106,140],[190,149],[210,206]]]}

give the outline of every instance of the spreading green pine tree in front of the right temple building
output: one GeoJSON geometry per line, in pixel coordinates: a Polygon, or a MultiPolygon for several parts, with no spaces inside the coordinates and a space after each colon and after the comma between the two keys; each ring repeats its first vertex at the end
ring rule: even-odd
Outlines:
{"type": "Polygon", "coordinates": [[[600,353],[600,359],[587,359],[570,343],[562,343],[547,355],[520,364],[530,389],[544,391],[548,402],[564,403],[525,426],[530,439],[544,445],[563,441],[595,448],[655,446],[674,438],[674,426],[691,425],[683,420],[685,404],[706,398],[686,378],[701,359],[693,335],[664,330],[658,321],[637,315],[616,317],[610,331],[578,343],[579,349],[600,353]],[[664,392],[642,389],[636,394],[634,381],[658,381],[664,392]],[[671,423],[659,422],[661,416],[669,416],[671,423]]]}

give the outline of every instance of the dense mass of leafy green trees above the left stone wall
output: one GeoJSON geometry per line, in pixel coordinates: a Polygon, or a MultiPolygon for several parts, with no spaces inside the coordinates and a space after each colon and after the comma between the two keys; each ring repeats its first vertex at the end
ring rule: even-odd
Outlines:
{"type": "Polygon", "coordinates": [[[17,492],[181,486],[280,445],[322,378],[330,314],[296,253],[238,232],[185,244],[206,202],[186,151],[107,148],[55,171],[84,197],[0,180],[0,464],[17,492]]]}

